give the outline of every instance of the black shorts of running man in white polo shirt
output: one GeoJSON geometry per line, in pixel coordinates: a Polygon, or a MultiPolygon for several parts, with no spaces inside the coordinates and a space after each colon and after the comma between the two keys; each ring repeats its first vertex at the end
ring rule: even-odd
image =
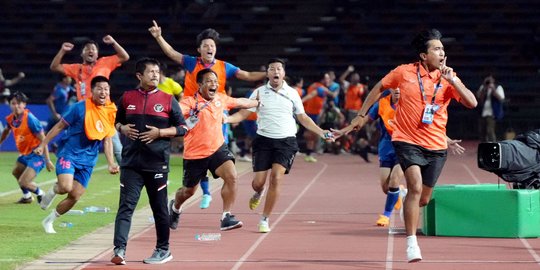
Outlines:
{"type": "Polygon", "coordinates": [[[254,172],[269,170],[272,164],[277,163],[285,167],[285,174],[288,174],[298,152],[296,137],[272,139],[257,134],[252,147],[254,172]]]}

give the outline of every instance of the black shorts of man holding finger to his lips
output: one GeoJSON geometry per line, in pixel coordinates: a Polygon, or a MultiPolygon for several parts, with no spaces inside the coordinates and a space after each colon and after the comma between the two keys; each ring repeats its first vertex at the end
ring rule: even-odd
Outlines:
{"type": "Polygon", "coordinates": [[[434,187],[446,162],[447,151],[428,150],[406,142],[395,141],[392,144],[403,172],[412,165],[418,165],[422,173],[422,184],[434,187]]]}

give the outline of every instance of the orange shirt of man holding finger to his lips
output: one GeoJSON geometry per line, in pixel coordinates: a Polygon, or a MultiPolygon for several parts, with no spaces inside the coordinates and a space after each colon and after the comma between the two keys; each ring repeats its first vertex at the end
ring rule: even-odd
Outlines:
{"type": "Polygon", "coordinates": [[[426,101],[422,97],[418,82],[419,63],[401,65],[388,73],[382,80],[382,89],[399,88],[400,98],[396,108],[394,134],[392,141],[402,141],[422,146],[430,150],[447,149],[446,123],[448,122],[448,104],[452,99],[461,100],[456,89],[437,69],[428,73],[420,65],[420,77],[424,85],[426,101]],[[441,82],[435,96],[435,104],[440,108],[435,112],[433,123],[422,123],[426,104],[431,104],[435,86],[441,82]]]}

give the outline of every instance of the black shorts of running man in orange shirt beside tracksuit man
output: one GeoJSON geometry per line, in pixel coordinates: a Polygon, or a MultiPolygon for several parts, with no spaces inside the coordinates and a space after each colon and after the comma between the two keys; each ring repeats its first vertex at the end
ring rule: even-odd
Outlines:
{"type": "Polygon", "coordinates": [[[196,186],[206,177],[208,170],[210,170],[214,178],[218,178],[219,176],[216,175],[216,169],[229,160],[234,162],[234,155],[229,151],[226,144],[223,144],[209,157],[202,159],[184,159],[183,185],[189,188],[196,186]]]}

